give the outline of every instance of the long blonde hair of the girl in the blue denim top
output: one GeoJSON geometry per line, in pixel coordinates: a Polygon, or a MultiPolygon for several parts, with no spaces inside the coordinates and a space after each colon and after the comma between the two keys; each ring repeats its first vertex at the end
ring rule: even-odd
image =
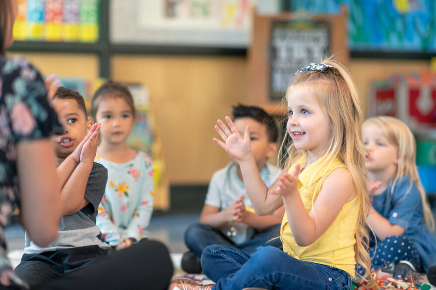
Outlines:
{"type": "Polygon", "coordinates": [[[387,142],[395,146],[398,150],[398,166],[395,176],[392,178],[393,186],[391,194],[395,189],[396,183],[401,180],[405,175],[410,177],[411,183],[409,191],[412,188],[412,183],[415,182],[418,191],[421,195],[421,203],[423,205],[424,221],[429,231],[435,231],[435,220],[433,219],[432,210],[430,209],[426,193],[421,184],[416,167],[416,143],[412,132],[404,122],[397,118],[389,116],[378,116],[369,118],[363,124],[365,127],[368,124],[378,126],[386,137],[387,142]]]}

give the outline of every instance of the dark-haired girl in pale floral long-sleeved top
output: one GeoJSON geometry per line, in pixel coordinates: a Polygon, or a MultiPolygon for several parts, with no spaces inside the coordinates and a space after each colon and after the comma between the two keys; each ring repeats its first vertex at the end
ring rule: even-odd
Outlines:
{"type": "Polygon", "coordinates": [[[151,159],[126,145],[134,114],[133,99],[119,83],[103,84],[92,98],[91,115],[102,124],[95,161],[108,169],[97,225],[105,242],[117,250],[147,237],[153,211],[151,159]]]}

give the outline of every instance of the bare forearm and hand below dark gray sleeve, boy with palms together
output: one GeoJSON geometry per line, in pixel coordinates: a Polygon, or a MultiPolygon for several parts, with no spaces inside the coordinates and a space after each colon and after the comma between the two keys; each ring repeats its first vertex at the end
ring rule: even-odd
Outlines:
{"type": "Polygon", "coordinates": [[[99,130],[100,125],[97,125],[94,132],[92,132],[88,140],[86,140],[82,150],[80,151],[79,164],[74,168],[73,172],[62,187],[61,200],[63,206],[63,215],[73,214],[89,203],[84,196],[86,184],[88,182],[89,174],[91,173],[94,157],[97,151],[99,130]]]}

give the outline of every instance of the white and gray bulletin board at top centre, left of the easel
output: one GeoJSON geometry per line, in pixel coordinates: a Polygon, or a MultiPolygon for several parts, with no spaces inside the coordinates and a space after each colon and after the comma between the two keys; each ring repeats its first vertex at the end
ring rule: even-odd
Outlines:
{"type": "Polygon", "coordinates": [[[251,0],[112,0],[114,44],[246,48],[251,0]]]}

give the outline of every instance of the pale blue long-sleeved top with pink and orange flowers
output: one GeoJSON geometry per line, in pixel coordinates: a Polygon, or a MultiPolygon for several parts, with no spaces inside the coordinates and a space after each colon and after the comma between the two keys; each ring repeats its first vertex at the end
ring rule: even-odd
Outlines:
{"type": "Polygon", "coordinates": [[[105,195],[98,207],[97,226],[102,238],[116,246],[127,238],[136,242],[148,236],[153,212],[153,164],[143,152],[126,163],[114,163],[98,153],[95,162],[108,169],[105,195]]]}

